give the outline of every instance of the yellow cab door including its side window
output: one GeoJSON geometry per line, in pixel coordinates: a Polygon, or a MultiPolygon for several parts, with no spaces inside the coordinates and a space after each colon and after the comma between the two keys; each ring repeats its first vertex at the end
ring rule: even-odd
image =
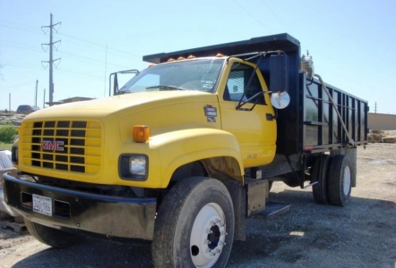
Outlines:
{"type": "Polygon", "coordinates": [[[276,119],[260,71],[254,71],[253,63],[229,59],[218,95],[221,128],[237,138],[245,167],[271,163],[276,150],[276,119]]]}

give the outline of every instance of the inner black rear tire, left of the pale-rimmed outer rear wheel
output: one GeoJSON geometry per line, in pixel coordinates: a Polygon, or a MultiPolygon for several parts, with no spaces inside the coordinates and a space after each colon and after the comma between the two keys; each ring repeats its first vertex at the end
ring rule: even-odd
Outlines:
{"type": "Polygon", "coordinates": [[[314,162],[314,170],[312,173],[312,182],[317,181],[312,187],[314,201],[319,204],[329,204],[329,192],[327,189],[327,180],[329,166],[331,163],[330,155],[320,155],[314,162]]]}

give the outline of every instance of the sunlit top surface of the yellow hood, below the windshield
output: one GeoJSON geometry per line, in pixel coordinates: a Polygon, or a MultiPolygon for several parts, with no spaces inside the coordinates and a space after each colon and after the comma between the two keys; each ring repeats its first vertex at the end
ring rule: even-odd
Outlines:
{"type": "Polygon", "coordinates": [[[102,117],[110,113],[136,113],[161,105],[179,104],[192,100],[213,101],[214,95],[201,91],[155,91],[109,96],[64,105],[55,105],[30,113],[25,119],[48,117],[102,117]],[[133,109],[131,109],[133,107],[133,109]]]}

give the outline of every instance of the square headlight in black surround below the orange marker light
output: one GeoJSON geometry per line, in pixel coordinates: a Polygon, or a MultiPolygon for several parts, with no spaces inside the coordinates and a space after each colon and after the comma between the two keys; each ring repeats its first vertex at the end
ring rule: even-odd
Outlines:
{"type": "Polygon", "coordinates": [[[121,155],[119,175],[123,180],[146,180],[149,172],[147,155],[121,155]]]}

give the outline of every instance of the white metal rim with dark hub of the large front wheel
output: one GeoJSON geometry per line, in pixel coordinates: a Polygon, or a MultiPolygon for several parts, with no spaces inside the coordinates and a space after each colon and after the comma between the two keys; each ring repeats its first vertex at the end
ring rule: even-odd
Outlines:
{"type": "Polygon", "coordinates": [[[209,203],[197,214],[190,236],[190,254],[196,267],[211,267],[226,247],[226,217],[220,205],[209,203]]]}

